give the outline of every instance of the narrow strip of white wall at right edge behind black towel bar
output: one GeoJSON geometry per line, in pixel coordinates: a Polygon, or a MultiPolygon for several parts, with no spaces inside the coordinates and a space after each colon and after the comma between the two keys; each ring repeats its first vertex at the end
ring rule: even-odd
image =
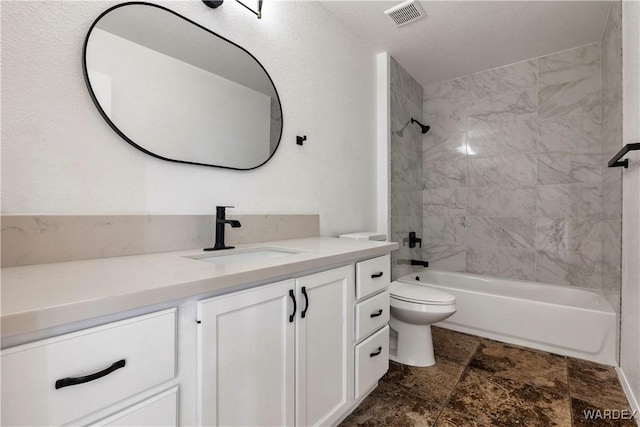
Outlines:
{"type": "MultiPolygon", "coordinates": [[[[640,2],[622,2],[623,144],[640,142],[640,2]]],[[[640,155],[622,180],[622,327],[620,368],[634,409],[640,399],[640,155]]]]}

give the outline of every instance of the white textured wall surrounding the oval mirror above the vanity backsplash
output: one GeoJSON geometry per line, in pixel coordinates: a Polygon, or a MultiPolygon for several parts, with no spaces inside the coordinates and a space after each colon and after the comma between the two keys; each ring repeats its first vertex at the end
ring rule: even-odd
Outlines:
{"type": "Polygon", "coordinates": [[[121,140],[82,78],[105,2],[3,2],[2,212],[319,213],[322,235],[376,226],[375,55],[316,2],[163,5],[244,46],[282,100],[280,148],[253,171],[157,160],[121,140]],[[296,135],[307,135],[300,147],[296,135]]]}

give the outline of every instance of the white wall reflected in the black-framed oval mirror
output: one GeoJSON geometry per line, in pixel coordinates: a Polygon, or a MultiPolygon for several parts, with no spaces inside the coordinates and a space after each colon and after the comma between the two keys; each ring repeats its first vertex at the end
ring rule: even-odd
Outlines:
{"type": "Polygon", "coordinates": [[[244,169],[269,158],[263,93],[98,28],[87,69],[94,88],[92,71],[110,77],[109,117],[154,154],[244,169]]]}

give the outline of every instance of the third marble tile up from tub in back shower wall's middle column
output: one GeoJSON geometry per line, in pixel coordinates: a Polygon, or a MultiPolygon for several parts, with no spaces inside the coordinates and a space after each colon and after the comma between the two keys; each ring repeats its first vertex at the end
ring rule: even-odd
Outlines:
{"type": "Polygon", "coordinates": [[[467,214],[473,216],[531,216],[536,212],[535,188],[467,188],[467,214]]]}

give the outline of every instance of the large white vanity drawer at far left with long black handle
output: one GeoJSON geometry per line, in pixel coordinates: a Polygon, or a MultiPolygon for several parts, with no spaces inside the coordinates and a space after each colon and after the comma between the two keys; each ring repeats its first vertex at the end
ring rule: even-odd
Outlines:
{"type": "Polygon", "coordinates": [[[69,423],[173,378],[175,335],[170,309],[2,351],[2,424],[69,423]]]}

